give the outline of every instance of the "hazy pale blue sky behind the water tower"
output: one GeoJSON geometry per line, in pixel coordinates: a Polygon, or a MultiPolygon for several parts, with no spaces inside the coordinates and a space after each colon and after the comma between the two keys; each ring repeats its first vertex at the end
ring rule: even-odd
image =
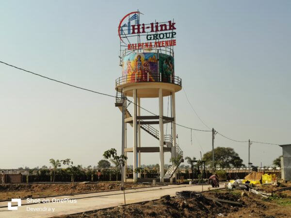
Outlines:
{"type": "MultiPolygon", "coordinates": [[[[144,14],[141,22],[174,18],[175,73],[200,118],[236,140],[291,143],[290,1],[132,3],[1,1],[0,61],[114,95],[122,74],[119,20],[136,9],[144,14]]],[[[120,151],[121,113],[113,98],[3,64],[0,93],[0,168],[49,165],[49,158],[97,165],[105,150],[120,151]]],[[[184,92],[176,96],[177,123],[205,129],[184,92]]],[[[158,111],[156,99],[142,100],[142,106],[158,111]]],[[[190,130],[178,127],[177,133],[185,154],[198,158],[210,151],[211,133],[193,132],[192,145],[190,130]]],[[[145,146],[158,146],[142,137],[145,146]]],[[[247,143],[217,135],[215,146],[233,147],[247,163],[247,143]]],[[[270,165],[281,153],[278,146],[254,143],[251,162],[270,165]]],[[[158,157],[143,155],[142,163],[158,163],[158,157]]]]}

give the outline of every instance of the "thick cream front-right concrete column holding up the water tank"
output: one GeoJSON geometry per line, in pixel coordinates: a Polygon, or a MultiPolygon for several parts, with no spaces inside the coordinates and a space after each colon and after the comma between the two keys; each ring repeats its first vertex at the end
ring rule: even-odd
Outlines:
{"type": "Polygon", "coordinates": [[[163,154],[164,135],[163,135],[162,116],[163,116],[162,89],[159,89],[160,178],[161,178],[161,182],[163,182],[163,176],[164,176],[164,154],[163,154]]]}

